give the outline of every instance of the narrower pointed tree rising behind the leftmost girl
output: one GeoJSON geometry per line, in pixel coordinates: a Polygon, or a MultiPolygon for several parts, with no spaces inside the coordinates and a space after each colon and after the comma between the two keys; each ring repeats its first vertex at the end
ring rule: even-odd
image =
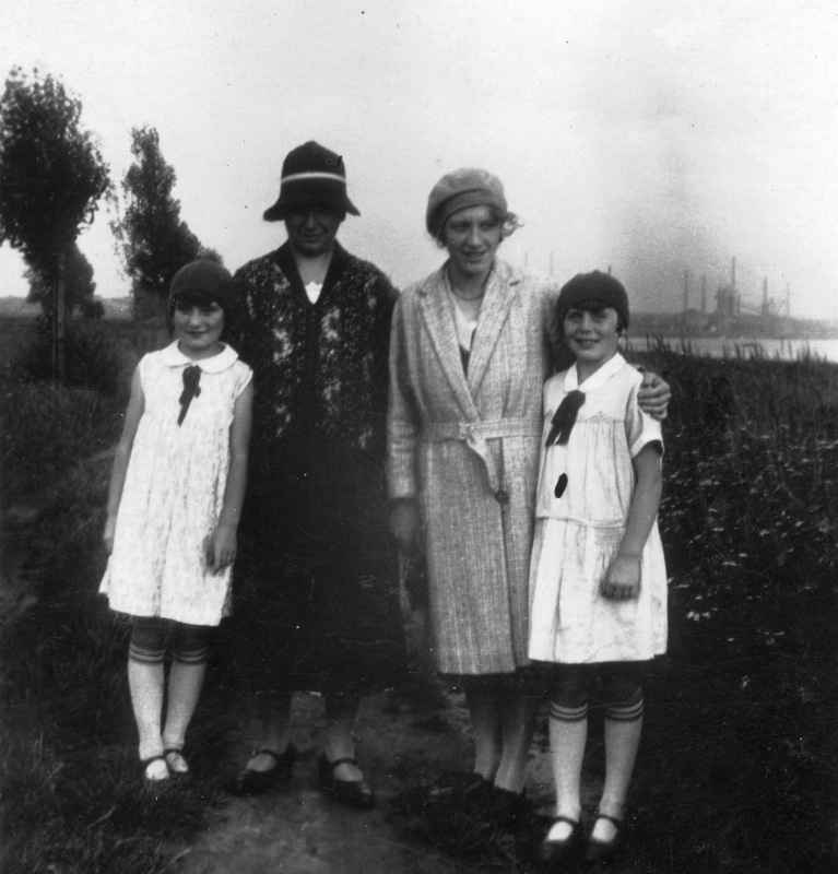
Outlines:
{"type": "MultiPolygon", "coordinates": [[[[131,154],[134,163],[122,180],[125,216],[111,222],[110,227],[117,239],[117,253],[133,281],[135,308],[142,310],[140,298],[150,296],[157,302],[157,311],[162,311],[175,273],[213,250],[203,249],[180,218],[180,202],[172,197],[177,177],[163,157],[157,131],[134,128],[131,154]]],[[[220,259],[217,252],[213,255],[220,259]]]]}

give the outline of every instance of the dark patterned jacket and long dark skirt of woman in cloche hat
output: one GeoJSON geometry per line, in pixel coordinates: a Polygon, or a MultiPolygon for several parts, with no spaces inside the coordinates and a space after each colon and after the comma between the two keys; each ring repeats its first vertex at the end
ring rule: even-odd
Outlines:
{"type": "Polygon", "coordinates": [[[234,587],[240,680],[328,695],[392,685],[405,670],[383,466],[396,292],[337,244],[315,304],[287,244],[234,280],[232,342],[256,388],[234,587]]]}

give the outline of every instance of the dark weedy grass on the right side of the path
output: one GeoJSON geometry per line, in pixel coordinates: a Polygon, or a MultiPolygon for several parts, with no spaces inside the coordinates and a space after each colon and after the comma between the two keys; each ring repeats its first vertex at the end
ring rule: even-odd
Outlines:
{"type": "MultiPolygon", "coordinates": [[[[838,366],[662,344],[642,358],[673,387],[660,512],[670,647],[646,684],[619,871],[833,871],[838,366]]],[[[545,719],[536,743],[547,748],[545,719]]],[[[595,719],[587,755],[590,819],[604,768],[595,719]]],[[[397,802],[414,838],[469,870],[538,870],[539,835],[463,820],[436,777],[397,802]]],[[[534,799],[551,801],[550,789],[534,799]]]]}

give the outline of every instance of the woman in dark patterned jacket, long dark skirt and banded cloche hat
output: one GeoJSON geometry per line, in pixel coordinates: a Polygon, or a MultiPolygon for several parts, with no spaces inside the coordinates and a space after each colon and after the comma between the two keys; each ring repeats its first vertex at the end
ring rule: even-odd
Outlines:
{"type": "Polygon", "coordinates": [[[339,155],[306,143],[264,213],[288,240],[234,276],[255,371],[253,445],[234,606],[241,680],[258,697],[256,751],[231,790],[287,779],[295,690],[323,694],[321,786],[373,806],[355,759],[359,697],[404,663],[386,524],[383,452],[393,287],[335,237],[346,213],[339,155]]]}

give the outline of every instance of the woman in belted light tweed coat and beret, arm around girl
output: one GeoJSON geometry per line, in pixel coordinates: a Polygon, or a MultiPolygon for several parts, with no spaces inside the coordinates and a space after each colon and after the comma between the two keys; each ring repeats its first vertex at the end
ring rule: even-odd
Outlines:
{"type": "MultiPolygon", "coordinates": [[[[518,221],[485,170],[444,176],[426,224],[448,260],[393,315],[390,528],[408,551],[422,527],[436,668],[463,685],[474,731],[471,796],[514,814],[542,694],[528,576],[558,290],[496,259],[518,221]]],[[[662,417],[669,387],[651,382],[645,406],[662,417]]]]}

